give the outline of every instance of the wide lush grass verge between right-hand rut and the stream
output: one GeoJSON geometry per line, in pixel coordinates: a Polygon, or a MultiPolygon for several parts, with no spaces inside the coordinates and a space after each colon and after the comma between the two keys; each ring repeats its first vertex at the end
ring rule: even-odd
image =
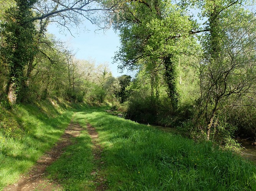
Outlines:
{"type": "Polygon", "coordinates": [[[109,190],[256,190],[256,168],[242,157],[197,144],[100,109],[84,115],[104,147],[109,190]]]}

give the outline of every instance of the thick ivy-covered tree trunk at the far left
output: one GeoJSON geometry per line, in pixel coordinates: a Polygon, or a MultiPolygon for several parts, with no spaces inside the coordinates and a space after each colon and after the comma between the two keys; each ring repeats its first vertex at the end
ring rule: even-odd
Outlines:
{"type": "Polygon", "coordinates": [[[6,10],[1,21],[2,44],[0,56],[8,66],[7,95],[10,103],[22,100],[24,68],[35,55],[35,25],[31,22],[32,6],[37,0],[16,0],[16,6],[6,10]]]}

